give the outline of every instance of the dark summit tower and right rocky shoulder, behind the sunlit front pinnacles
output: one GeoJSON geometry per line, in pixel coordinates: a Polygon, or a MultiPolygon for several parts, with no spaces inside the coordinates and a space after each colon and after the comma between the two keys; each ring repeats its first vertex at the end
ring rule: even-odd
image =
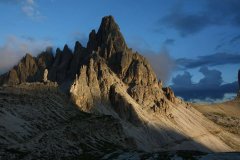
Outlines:
{"type": "Polygon", "coordinates": [[[128,49],[119,26],[112,16],[102,19],[100,28],[89,35],[88,51],[91,56],[104,59],[107,67],[127,84],[128,94],[140,105],[153,106],[164,97],[162,86],[146,58],[128,49]]]}

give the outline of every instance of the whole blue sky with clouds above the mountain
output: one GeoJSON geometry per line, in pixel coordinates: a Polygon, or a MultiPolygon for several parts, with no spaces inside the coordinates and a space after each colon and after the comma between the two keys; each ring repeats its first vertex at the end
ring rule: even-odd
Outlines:
{"type": "Polygon", "coordinates": [[[177,96],[225,100],[238,89],[239,8],[239,0],[0,0],[0,73],[26,52],[86,45],[112,15],[128,46],[177,96]]]}

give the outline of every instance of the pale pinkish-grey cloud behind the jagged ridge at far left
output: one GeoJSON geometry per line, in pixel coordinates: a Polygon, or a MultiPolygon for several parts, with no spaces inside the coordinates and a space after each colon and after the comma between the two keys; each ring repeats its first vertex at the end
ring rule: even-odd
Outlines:
{"type": "Polygon", "coordinates": [[[26,53],[37,55],[47,46],[51,46],[48,40],[8,36],[0,46],[0,74],[16,65],[26,53]]]}

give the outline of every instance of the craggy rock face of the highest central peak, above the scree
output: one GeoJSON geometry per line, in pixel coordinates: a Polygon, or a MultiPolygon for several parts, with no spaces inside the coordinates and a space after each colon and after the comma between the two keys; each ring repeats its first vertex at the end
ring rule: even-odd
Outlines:
{"type": "MultiPolygon", "coordinates": [[[[91,92],[93,95],[88,94],[89,101],[95,97],[108,102],[111,86],[119,84],[142,107],[164,107],[161,103],[166,98],[155,73],[143,56],[128,49],[113,17],[104,17],[98,32],[92,31],[89,38],[87,50],[90,55],[75,84],[90,88],[82,92],[73,85],[73,97],[81,97],[81,94],[90,92],[94,87],[91,92]],[[86,84],[83,79],[86,79],[86,84]]],[[[93,102],[87,105],[92,106],[93,102]]]]}

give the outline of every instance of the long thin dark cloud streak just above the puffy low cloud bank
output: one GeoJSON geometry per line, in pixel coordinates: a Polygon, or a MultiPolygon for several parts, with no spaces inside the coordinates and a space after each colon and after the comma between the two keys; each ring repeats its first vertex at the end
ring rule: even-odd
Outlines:
{"type": "Polygon", "coordinates": [[[180,58],[176,60],[176,63],[183,68],[240,64],[240,54],[215,53],[212,55],[199,56],[197,59],[180,58]]]}

